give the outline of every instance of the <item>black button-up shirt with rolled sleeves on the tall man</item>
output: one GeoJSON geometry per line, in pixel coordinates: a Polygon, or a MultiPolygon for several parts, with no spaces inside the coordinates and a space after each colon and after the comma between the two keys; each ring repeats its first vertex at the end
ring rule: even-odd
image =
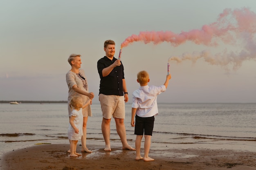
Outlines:
{"type": "Polygon", "coordinates": [[[104,56],[97,62],[97,68],[101,82],[99,85],[99,94],[104,95],[119,95],[123,96],[123,79],[124,79],[124,66],[116,66],[106,77],[102,76],[102,70],[111,64],[113,64],[117,59],[113,57],[110,60],[108,57],[104,56]]]}

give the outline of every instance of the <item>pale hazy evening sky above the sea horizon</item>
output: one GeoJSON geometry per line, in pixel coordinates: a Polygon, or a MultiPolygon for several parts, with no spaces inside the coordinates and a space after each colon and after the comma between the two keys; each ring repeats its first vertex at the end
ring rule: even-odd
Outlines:
{"type": "MultiPolygon", "coordinates": [[[[116,42],[118,57],[121,43],[132,34],[201,30],[217,22],[225,9],[244,7],[255,15],[255,0],[0,0],[0,100],[67,100],[67,58],[77,53],[89,91],[95,94],[93,102],[98,102],[97,61],[105,55],[105,40],[116,42]]],[[[255,47],[255,34],[251,36],[255,47]]],[[[238,42],[217,46],[190,41],[178,46],[169,42],[129,44],[121,55],[129,102],[139,88],[139,71],[148,71],[149,85],[160,86],[170,57],[204,50],[213,55],[224,50],[239,53],[246,42],[238,42]]],[[[243,60],[236,70],[229,64],[229,71],[203,58],[170,65],[172,79],[158,102],[256,102],[256,56],[243,60]]]]}

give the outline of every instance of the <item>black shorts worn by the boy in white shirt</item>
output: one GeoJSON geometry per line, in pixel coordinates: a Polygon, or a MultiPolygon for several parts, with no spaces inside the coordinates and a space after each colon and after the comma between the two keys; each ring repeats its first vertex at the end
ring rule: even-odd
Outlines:
{"type": "Polygon", "coordinates": [[[135,116],[135,135],[145,135],[152,136],[153,128],[154,128],[155,117],[139,117],[135,116]]]}

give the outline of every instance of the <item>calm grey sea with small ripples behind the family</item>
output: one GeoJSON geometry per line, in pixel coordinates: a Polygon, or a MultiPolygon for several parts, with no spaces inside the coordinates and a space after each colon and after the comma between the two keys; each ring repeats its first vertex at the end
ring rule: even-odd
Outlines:
{"type": "MultiPolygon", "coordinates": [[[[256,104],[158,104],[152,143],[198,144],[213,141],[256,142],[256,104]]],[[[100,104],[92,104],[88,144],[103,141],[100,104]]],[[[126,133],[134,147],[131,104],[126,104],[126,133]]],[[[0,104],[0,157],[3,153],[40,143],[68,144],[67,104],[0,104]]],[[[119,140],[115,121],[111,139],[119,140]]],[[[120,142],[119,142],[120,143],[120,142]]],[[[104,147],[104,146],[103,146],[104,147]]]]}

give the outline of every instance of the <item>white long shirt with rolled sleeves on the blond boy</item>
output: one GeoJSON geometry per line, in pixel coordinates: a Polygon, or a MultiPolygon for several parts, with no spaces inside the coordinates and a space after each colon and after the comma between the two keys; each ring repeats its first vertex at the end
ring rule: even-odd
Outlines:
{"type": "Polygon", "coordinates": [[[140,86],[132,93],[132,108],[137,108],[139,117],[152,117],[158,114],[157,95],[166,91],[162,86],[140,86]]]}

